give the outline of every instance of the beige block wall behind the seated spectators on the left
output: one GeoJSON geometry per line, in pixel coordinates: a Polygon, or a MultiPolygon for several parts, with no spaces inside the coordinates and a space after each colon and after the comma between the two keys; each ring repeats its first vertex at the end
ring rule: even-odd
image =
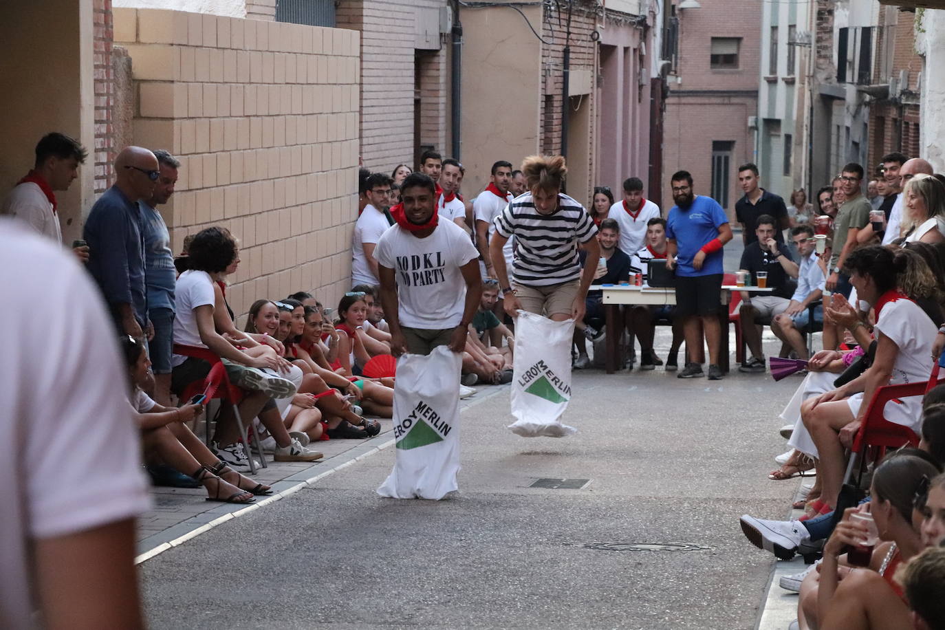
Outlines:
{"type": "Polygon", "coordinates": [[[172,247],[211,225],[240,239],[228,297],[350,287],[357,213],[358,33],[338,28],[115,9],[138,91],[134,142],[180,158],[161,208],[172,247]]]}

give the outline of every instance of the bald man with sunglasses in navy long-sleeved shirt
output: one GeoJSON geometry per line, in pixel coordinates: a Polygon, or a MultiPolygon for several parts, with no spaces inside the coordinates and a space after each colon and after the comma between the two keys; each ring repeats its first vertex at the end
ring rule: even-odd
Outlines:
{"type": "Polygon", "coordinates": [[[151,336],[145,288],[145,245],[140,199],[149,199],[161,171],[141,146],[124,148],[115,159],[115,183],[95,201],[82,235],[89,245],[89,272],[109,305],[119,332],[151,336]]]}

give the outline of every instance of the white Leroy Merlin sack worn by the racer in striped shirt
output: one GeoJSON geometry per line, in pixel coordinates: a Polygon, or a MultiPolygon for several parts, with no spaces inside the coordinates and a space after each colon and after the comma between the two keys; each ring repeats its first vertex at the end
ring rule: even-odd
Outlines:
{"type": "MultiPolygon", "coordinates": [[[[519,311],[515,320],[512,416],[523,437],[564,437],[577,429],[558,418],[571,400],[571,340],[575,322],[519,311]]],[[[398,373],[400,378],[400,373],[398,373]]]]}

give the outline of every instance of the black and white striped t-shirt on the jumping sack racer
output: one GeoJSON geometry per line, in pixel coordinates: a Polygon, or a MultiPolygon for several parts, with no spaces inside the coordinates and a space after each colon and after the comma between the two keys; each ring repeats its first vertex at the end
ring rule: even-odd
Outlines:
{"type": "Polygon", "coordinates": [[[496,215],[495,230],[515,236],[512,280],[526,286],[547,286],[577,280],[581,266],[577,246],[597,233],[591,215],[570,196],[558,194],[558,210],[541,214],[531,193],[515,197],[496,215]]]}

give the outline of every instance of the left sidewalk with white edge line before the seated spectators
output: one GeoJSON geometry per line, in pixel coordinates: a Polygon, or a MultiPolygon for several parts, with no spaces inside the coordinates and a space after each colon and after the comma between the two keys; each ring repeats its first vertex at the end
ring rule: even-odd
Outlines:
{"type": "MultiPolygon", "coordinates": [[[[460,413],[479,402],[507,392],[508,386],[479,385],[476,389],[477,392],[471,397],[459,401],[460,413]]],[[[154,506],[138,519],[138,556],[135,558],[135,563],[140,564],[227,520],[280,501],[283,497],[294,494],[302,487],[313,484],[336,470],[351,466],[377,451],[392,446],[394,440],[390,433],[393,430],[393,422],[389,418],[379,419],[381,433],[369,439],[333,439],[313,443],[312,448],[325,454],[322,459],[313,464],[274,462],[271,461],[270,455],[267,458],[268,467],[260,468],[253,479],[271,485],[273,493],[266,497],[256,497],[256,501],[249,504],[206,501],[207,491],[202,486],[198,488],[152,486],[151,496],[154,506]]]]}

